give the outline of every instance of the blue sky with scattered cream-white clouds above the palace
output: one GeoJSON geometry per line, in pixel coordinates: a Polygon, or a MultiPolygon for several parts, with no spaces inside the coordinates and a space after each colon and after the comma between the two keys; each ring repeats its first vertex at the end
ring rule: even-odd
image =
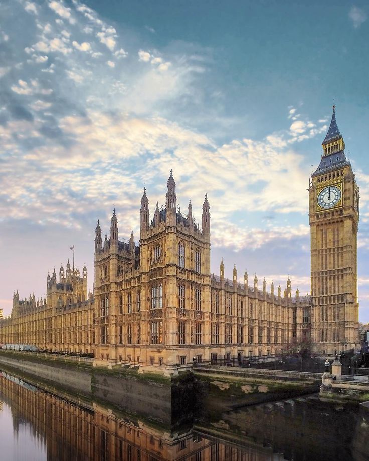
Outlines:
{"type": "Polygon", "coordinates": [[[286,0],[0,1],[0,308],[86,263],[94,231],[177,204],[211,213],[211,271],[310,292],[309,177],[333,98],[360,187],[369,321],[369,6],[286,0]]]}

